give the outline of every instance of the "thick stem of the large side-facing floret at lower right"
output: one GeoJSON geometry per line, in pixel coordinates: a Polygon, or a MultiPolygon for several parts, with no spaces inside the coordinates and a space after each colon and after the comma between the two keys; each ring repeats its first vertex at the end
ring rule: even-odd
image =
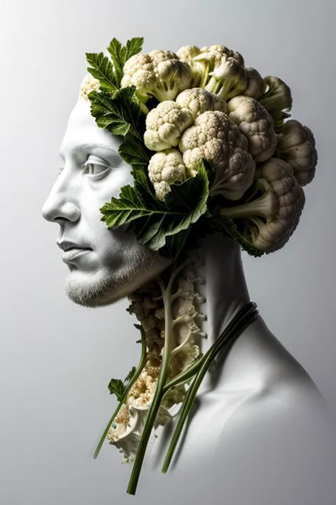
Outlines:
{"type": "Polygon", "coordinates": [[[265,219],[271,219],[279,209],[279,201],[276,199],[271,186],[263,178],[257,181],[259,189],[264,189],[264,194],[252,200],[252,202],[235,207],[221,207],[219,214],[230,218],[235,217],[249,217],[249,216],[262,216],[265,219]]]}

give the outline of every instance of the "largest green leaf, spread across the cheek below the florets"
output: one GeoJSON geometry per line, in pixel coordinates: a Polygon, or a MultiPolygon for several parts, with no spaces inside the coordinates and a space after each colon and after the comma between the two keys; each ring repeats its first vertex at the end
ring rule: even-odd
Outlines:
{"type": "Polygon", "coordinates": [[[133,170],[132,175],[134,185],[123,186],[118,198],[111,198],[111,202],[101,207],[101,221],[108,227],[132,223],[141,244],[176,258],[191,225],[207,211],[209,188],[203,161],[195,177],[171,185],[164,202],[155,198],[145,168],[133,170]]]}

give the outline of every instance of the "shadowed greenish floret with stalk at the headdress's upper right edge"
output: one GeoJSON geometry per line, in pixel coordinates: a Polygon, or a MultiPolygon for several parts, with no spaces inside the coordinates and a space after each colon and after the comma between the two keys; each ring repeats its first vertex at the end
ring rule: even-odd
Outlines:
{"type": "Polygon", "coordinates": [[[289,114],[293,104],[291,89],[286,82],[273,75],[264,77],[264,82],[269,89],[259,98],[259,103],[271,114],[276,134],[281,134],[284,120],[291,116],[289,114]]]}

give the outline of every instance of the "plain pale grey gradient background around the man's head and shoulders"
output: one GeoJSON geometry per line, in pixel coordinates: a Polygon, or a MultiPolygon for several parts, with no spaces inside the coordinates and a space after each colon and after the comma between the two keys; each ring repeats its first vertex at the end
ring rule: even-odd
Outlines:
{"type": "Polygon", "coordinates": [[[118,451],[91,459],[115,405],[108,381],[138,359],[134,321],[125,301],[94,310],[66,298],[58,225],[40,214],[84,53],[113,36],[144,36],[144,50],[224,43],[291,86],[318,169],[289,244],[244,255],[245,273],[267,325],[336,412],[335,14],[332,0],[1,1],[1,504],[134,502],[118,451]]]}

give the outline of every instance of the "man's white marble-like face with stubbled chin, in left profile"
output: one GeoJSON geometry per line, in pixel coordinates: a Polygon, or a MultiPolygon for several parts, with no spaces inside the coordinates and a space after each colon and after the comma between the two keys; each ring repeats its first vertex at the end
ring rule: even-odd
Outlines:
{"type": "Polygon", "coordinates": [[[130,165],[118,155],[120,143],[96,125],[90,103],[79,99],[62,141],[63,168],[43,205],[43,217],[60,225],[57,244],[68,249],[62,256],[69,268],[65,292],[86,307],[120,300],[169,265],[127,225],[108,228],[101,221],[99,209],[123,185],[133,185],[130,165]]]}

